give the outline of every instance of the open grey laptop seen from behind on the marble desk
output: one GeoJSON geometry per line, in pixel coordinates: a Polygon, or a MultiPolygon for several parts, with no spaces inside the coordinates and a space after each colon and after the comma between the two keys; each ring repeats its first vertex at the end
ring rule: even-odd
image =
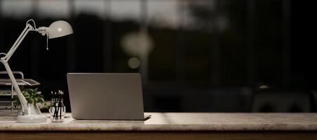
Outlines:
{"type": "Polygon", "coordinates": [[[146,120],[140,73],[67,73],[72,118],[146,120]]]}

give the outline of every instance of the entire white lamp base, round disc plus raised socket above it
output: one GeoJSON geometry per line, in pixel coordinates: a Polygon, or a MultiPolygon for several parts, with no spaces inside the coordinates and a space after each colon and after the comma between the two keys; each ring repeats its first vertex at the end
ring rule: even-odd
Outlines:
{"type": "Polygon", "coordinates": [[[16,118],[17,123],[46,123],[46,116],[41,114],[39,107],[36,104],[27,104],[24,113],[22,110],[18,111],[16,118]]]}

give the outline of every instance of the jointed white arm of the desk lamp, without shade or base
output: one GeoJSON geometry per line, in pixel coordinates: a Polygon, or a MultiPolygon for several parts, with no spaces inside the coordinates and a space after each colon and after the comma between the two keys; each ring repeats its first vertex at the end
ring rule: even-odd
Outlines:
{"type": "MultiPolygon", "coordinates": [[[[12,85],[15,89],[15,92],[18,96],[18,99],[20,100],[20,104],[22,107],[22,112],[25,111],[25,108],[27,107],[27,100],[25,99],[25,97],[23,96],[20,87],[18,86],[18,82],[16,81],[15,77],[13,76],[13,73],[11,71],[10,66],[8,65],[8,60],[10,59],[10,57],[13,55],[13,53],[15,52],[15,50],[18,48],[18,46],[20,45],[20,43],[23,41],[23,39],[25,38],[25,36],[27,35],[27,33],[29,31],[32,31],[33,27],[30,24],[27,24],[27,26],[25,27],[25,29],[22,31],[22,33],[20,34],[20,36],[18,37],[18,39],[15,41],[15,43],[12,45],[11,49],[8,51],[8,53],[6,53],[6,55],[4,57],[1,57],[0,61],[4,64],[6,71],[8,72],[8,76],[11,79],[12,85]]],[[[3,53],[4,54],[4,53],[3,53]]]]}

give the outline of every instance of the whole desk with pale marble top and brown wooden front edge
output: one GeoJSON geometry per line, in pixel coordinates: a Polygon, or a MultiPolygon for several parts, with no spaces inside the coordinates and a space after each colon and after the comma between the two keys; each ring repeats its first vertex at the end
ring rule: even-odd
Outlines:
{"type": "MultiPolygon", "coordinates": [[[[244,136],[242,137],[244,139],[250,136],[270,138],[276,134],[277,136],[275,137],[280,137],[280,134],[282,134],[285,138],[292,136],[292,139],[296,137],[300,139],[306,139],[307,137],[317,138],[317,113],[148,114],[152,115],[151,118],[143,121],[74,120],[71,117],[71,114],[68,113],[68,117],[65,118],[63,123],[51,123],[48,119],[47,123],[32,124],[15,123],[15,114],[0,113],[0,132],[2,132],[4,136],[11,135],[11,137],[16,136],[17,134],[32,133],[37,135],[37,132],[41,132],[41,134],[58,132],[58,134],[67,134],[65,137],[71,134],[89,135],[91,133],[96,134],[96,132],[98,132],[98,136],[105,134],[103,136],[109,137],[109,134],[110,136],[111,134],[115,134],[115,136],[119,136],[119,134],[127,134],[129,138],[131,138],[131,134],[132,136],[145,134],[145,136],[150,136],[151,139],[155,139],[155,136],[160,136],[160,134],[162,134],[162,136],[157,138],[164,137],[164,134],[169,134],[174,138],[183,137],[182,139],[189,139],[193,136],[200,137],[201,139],[207,139],[210,136],[219,136],[219,138],[232,136],[231,139],[237,136],[244,136]],[[190,135],[184,137],[183,134],[190,135]]],[[[48,114],[46,115],[48,116],[48,114]]],[[[42,138],[43,137],[41,137],[41,139],[42,138]]],[[[140,139],[140,137],[137,137],[137,139],[140,139]]]]}

